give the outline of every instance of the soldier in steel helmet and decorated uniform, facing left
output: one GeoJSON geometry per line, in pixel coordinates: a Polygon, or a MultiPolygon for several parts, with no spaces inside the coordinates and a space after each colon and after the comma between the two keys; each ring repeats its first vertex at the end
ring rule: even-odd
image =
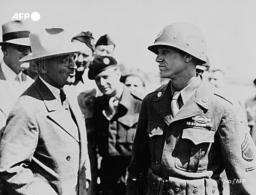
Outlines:
{"type": "Polygon", "coordinates": [[[127,194],[215,195],[229,181],[235,194],[255,194],[256,148],[242,108],[196,74],[206,62],[202,31],[172,23],[148,50],[170,82],[142,101],[127,194]]]}

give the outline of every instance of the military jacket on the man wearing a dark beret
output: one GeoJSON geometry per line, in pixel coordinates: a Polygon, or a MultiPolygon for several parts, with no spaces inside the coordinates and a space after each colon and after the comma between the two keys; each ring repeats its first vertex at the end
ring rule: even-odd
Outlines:
{"type": "Polygon", "coordinates": [[[130,93],[124,85],[117,112],[111,120],[108,120],[102,113],[109,106],[107,96],[96,97],[94,105],[93,131],[100,155],[102,157],[131,156],[141,99],[134,93],[130,93]]]}

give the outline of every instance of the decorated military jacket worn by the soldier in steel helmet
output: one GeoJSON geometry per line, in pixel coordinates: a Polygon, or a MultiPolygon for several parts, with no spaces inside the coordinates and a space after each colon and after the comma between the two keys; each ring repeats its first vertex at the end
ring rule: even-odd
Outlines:
{"type": "Polygon", "coordinates": [[[234,191],[255,194],[256,149],[240,105],[202,81],[172,117],[170,85],[142,101],[127,194],[137,194],[149,168],[165,180],[217,180],[225,169],[234,191]]]}

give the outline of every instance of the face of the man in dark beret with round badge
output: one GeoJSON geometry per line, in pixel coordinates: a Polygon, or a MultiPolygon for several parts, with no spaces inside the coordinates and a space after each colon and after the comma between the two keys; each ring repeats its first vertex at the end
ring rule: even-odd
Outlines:
{"type": "Polygon", "coordinates": [[[100,72],[94,79],[99,87],[99,90],[108,96],[114,96],[117,93],[117,88],[121,73],[116,67],[108,68],[100,72]]]}

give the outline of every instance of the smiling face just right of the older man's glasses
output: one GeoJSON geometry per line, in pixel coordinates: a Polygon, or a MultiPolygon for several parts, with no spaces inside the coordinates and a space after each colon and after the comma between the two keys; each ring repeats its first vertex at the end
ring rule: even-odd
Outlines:
{"type": "Polygon", "coordinates": [[[93,60],[93,52],[90,47],[83,43],[83,50],[78,52],[76,60],[77,71],[84,71],[89,67],[90,62],[93,60]]]}

